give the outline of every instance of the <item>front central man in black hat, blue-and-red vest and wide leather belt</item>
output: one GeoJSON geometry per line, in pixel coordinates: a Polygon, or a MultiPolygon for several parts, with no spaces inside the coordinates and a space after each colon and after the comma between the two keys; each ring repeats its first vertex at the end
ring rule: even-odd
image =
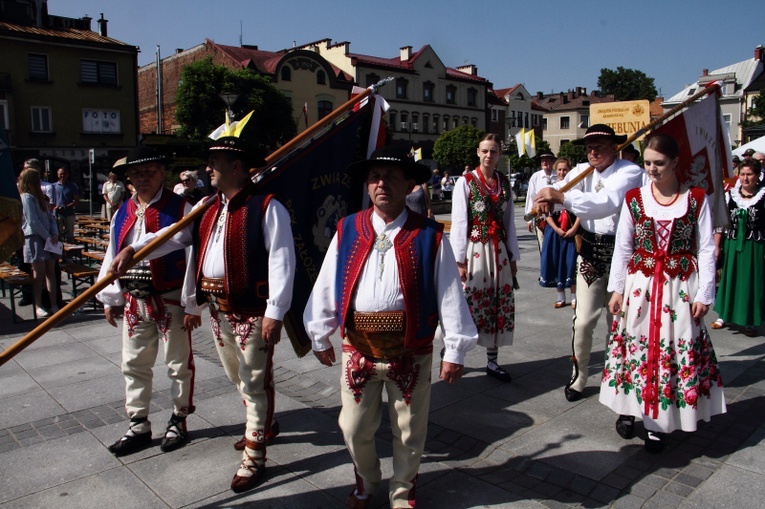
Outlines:
{"type": "Polygon", "coordinates": [[[338,223],[303,321],[327,366],[335,362],[329,336],[338,328],[343,336],[339,423],[356,472],[349,507],[366,507],[381,481],[375,432],[383,390],[393,432],[390,505],[414,507],[436,328],[440,321],[440,377],[448,383],[462,376],[478,333],[443,225],[406,208],[407,193],[428,180],[428,168],[386,147],[348,171],[366,175],[373,208],[338,223]]]}

